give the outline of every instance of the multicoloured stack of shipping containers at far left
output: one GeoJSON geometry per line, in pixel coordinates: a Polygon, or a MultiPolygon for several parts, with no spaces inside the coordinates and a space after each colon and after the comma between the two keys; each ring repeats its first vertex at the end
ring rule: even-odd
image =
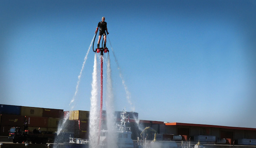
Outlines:
{"type": "Polygon", "coordinates": [[[57,131],[58,122],[63,117],[61,109],[35,108],[15,105],[0,105],[0,135],[8,136],[12,127],[23,128],[27,122],[28,130],[57,131]]]}

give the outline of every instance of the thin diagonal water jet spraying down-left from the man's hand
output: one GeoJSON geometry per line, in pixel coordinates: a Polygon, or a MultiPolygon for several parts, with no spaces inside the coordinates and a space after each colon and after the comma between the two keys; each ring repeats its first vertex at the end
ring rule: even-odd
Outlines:
{"type": "MultiPolygon", "coordinates": [[[[93,36],[93,39],[94,39],[95,36],[96,36],[96,34],[93,36]]],[[[70,101],[70,104],[69,104],[69,105],[72,105],[72,103],[75,101],[75,97],[76,97],[76,94],[77,94],[77,92],[78,92],[78,87],[79,87],[79,83],[80,83],[80,79],[81,79],[81,75],[82,75],[82,71],[84,70],[84,65],[85,65],[85,63],[86,63],[87,56],[88,56],[88,53],[89,53],[89,51],[90,51],[90,48],[92,47],[92,43],[93,43],[93,40],[91,41],[90,46],[89,46],[89,48],[88,48],[88,50],[87,50],[87,53],[86,53],[86,55],[85,55],[85,57],[84,57],[84,63],[83,63],[83,65],[82,65],[80,74],[79,74],[79,76],[78,76],[78,81],[77,81],[77,84],[76,84],[76,92],[75,92],[75,94],[74,94],[72,100],[70,101]]],[[[73,108],[74,108],[74,105],[72,105],[72,106],[70,107],[70,111],[72,111],[73,108]]],[[[63,120],[62,122],[59,122],[59,124],[58,124],[58,130],[57,130],[57,137],[58,137],[59,134],[61,133],[62,129],[67,126],[66,124],[67,124],[67,120],[68,120],[68,119],[69,119],[69,113],[66,114],[66,116],[64,117],[64,120],[63,120]]],[[[56,137],[55,140],[54,140],[55,143],[58,142],[58,139],[61,139],[61,138],[57,138],[57,137],[56,137]]]]}

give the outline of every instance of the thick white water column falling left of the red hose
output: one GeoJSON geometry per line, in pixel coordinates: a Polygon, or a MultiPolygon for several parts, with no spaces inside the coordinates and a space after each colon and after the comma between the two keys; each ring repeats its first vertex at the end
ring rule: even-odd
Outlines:
{"type": "Polygon", "coordinates": [[[90,148],[96,148],[98,145],[98,129],[99,129],[99,109],[98,109],[98,86],[99,82],[97,80],[97,55],[94,56],[94,65],[93,65],[93,82],[92,82],[92,91],[91,91],[91,106],[90,106],[90,148]]]}

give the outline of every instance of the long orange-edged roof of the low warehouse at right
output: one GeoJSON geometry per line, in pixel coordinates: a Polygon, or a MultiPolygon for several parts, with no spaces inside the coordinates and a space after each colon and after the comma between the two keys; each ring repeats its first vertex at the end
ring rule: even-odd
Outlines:
{"type": "Polygon", "coordinates": [[[256,128],[239,128],[239,127],[230,127],[230,126],[204,125],[204,124],[178,123],[178,122],[164,122],[164,123],[165,125],[197,126],[197,127],[207,127],[207,128],[225,128],[225,129],[235,129],[235,130],[256,131],[256,128]]]}

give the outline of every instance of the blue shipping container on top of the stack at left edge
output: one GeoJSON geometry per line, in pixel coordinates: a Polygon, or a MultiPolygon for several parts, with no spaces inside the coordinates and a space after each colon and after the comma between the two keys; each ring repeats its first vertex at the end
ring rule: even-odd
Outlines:
{"type": "Polygon", "coordinates": [[[20,115],[21,106],[0,104],[0,114],[20,115]]]}

